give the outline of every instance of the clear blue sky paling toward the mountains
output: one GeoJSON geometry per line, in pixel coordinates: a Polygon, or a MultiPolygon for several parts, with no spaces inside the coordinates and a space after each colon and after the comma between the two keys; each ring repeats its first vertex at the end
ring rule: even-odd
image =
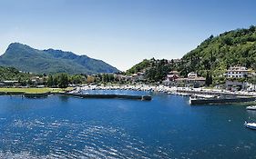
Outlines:
{"type": "Polygon", "coordinates": [[[0,55],[18,42],[125,71],[181,58],[210,35],[256,25],[255,0],[0,0],[0,55]]]}

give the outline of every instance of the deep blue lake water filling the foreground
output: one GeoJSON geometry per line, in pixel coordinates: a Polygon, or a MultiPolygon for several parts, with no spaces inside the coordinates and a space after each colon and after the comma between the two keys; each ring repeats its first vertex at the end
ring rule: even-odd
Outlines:
{"type": "Polygon", "coordinates": [[[255,158],[256,131],[243,123],[256,114],[245,106],[190,106],[168,94],[149,102],[2,95],[0,158],[255,158]]]}

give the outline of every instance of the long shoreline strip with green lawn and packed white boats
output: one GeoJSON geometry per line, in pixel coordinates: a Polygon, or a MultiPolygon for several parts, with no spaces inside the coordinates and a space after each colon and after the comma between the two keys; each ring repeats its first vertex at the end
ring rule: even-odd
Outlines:
{"type": "MultiPolygon", "coordinates": [[[[96,85],[96,84],[84,84],[76,87],[69,87],[67,89],[60,88],[0,88],[0,94],[21,94],[25,97],[36,98],[46,97],[49,94],[80,94],[83,91],[91,90],[131,90],[131,91],[146,91],[149,93],[164,93],[164,94],[177,94],[183,96],[198,95],[204,98],[210,98],[214,96],[232,95],[234,98],[243,97],[256,97],[255,92],[231,92],[227,90],[207,89],[207,88],[189,88],[189,87],[176,87],[165,85],[149,85],[149,84],[109,84],[109,85],[96,85]],[[5,91],[3,91],[5,90],[5,91]],[[22,90],[22,91],[21,91],[22,90]],[[30,91],[29,91],[30,90],[30,91]],[[32,92],[33,90],[34,92],[32,92]],[[36,90],[36,91],[35,91],[36,90]],[[41,92],[40,92],[41,90],[41,92]]],[[[111,93],[110,93],[111,94],[111,93]]]]}

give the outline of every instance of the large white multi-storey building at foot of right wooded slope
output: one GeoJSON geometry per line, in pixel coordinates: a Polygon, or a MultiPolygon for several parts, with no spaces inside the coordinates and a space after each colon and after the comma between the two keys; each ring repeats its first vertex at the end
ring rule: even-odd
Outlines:
{"type": "Polygon", "coordinates": [[[245,76],[248,76],[249,70],[246,67],[243,66],[234,66],[230,67],[227,71],[227,77],[228,78],[243,78],[245,76]]]}

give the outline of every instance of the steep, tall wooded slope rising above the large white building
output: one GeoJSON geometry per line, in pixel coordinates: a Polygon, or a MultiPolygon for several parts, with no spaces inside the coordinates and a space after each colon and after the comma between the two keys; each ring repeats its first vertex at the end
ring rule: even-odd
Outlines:
{"type": "Polygon", "coordinates": [[[230,66],[242,65],[256,69],[256,26],[236,29],[214,37],[210,35],[197,48],[182,57],[179,71],[187,75],[194,71],[218,77],[230,66]]]}

